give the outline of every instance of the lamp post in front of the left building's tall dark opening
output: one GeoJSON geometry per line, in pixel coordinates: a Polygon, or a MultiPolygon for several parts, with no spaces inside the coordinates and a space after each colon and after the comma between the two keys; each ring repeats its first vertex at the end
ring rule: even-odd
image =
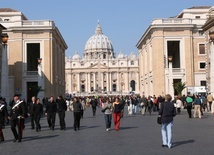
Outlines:
{"type": "MultiPolygon", "coordinates": [[[[43,88],[43,73],[42,73],[42,58],[38,58],[38,89],[43,88]]],[[[37,97],[42,99],[44,97],[44,93],[40,90],[37,94],[37,97]]]]}

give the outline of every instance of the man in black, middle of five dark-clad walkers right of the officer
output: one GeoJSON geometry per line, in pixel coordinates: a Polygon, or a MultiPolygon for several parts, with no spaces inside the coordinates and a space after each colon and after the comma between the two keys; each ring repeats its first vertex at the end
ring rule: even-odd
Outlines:
{"type": "Polygon", "coordinates": [[[54,101],[54,97],[51,96],[49,102],[46,105],[45,115],[47,116],[48,126],[52,131],[54,131],[55,127],[56,112],[57,105],[56,102],[54,101]]]}

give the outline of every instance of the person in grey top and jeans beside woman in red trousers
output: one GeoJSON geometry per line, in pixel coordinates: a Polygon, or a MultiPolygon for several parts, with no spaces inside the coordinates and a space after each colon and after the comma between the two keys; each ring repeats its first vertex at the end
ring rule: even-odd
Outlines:
{"type": "Polygon", "coordinates": [[[104,118],[106,124],[106,131],[111,130],[111,120],[112,120],[112,103],[109,102],[109,99],[103,99],[102,109],[104,110],[104,118]]]}

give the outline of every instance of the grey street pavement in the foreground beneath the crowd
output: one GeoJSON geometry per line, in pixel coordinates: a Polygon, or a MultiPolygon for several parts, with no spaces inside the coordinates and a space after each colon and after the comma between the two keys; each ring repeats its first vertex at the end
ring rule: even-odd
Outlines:
{"type": "MultiPolygon", "coordinates": [[[[126,107],[127,108],[127,107],[126,107]]],[[[30,129],[27,121],[21,143],[13,143],[9,126],[4,129],[5,141],[0,143],[1,155],[212,155],[214,146],[214,116],[205,113],[202,119],[189,119],[186,111],[177,115],[173,126],[173,148],[162,148],[160,125],[156,123],[157,112],[127,115],[121,119],[119,131],[106,131],[103,113],[97,109],[92,116],[87,108],[81,119],[79,131],[73,130],[72,112],[66,112],[67,130],[59,129],[58,115],[55,131],[47,126],[46,117],[41,119],[42,131],[30,129]]]]}

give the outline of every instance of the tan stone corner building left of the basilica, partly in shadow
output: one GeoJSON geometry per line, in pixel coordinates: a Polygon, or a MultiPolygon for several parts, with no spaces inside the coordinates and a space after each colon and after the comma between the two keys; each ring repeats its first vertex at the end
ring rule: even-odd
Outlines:
{"type": "Polygon", "coordinates": [[[29,100],[38,86],[38,97],[65,93],[65,50],[67,45],[51,20],[28,20],[10,8],[0,9],[0,24],[7,28],[9,92],[29,100]],[[40,59],[39,59],[40,58],[40,59]],[[38,66],[38,59],[39,61],[38,66]],[[38,72],[40,70],[40,73],[38,72]]]}

